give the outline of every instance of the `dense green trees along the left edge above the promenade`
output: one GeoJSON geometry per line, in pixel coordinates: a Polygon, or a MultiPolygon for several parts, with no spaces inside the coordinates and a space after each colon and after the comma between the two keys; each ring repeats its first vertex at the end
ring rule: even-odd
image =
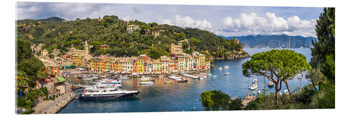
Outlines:
{"type": "Polygon", "coordinates": [[[47,88],[33,89],[35,81],[39,78],[43,80],[47,74],[43,62],[34,57],[30,44],[31,42],[28,40],[17,40],[16,105],[17,107],[27,108],[24,114],[32,113],[31,108],[36,98],[47,94],[47,88]]]}

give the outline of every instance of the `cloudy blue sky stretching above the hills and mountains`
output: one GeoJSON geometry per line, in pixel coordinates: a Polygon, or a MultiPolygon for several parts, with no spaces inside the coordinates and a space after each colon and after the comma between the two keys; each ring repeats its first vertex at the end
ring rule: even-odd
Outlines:
{"type": "Polygon", "coordinates": [[[216,35],[302,35],[315,37],[322,8],[145,5],[118,3],[17,2],[17,19],[67,20],[117,15],[124,20],[200,28],[216,35]]]}

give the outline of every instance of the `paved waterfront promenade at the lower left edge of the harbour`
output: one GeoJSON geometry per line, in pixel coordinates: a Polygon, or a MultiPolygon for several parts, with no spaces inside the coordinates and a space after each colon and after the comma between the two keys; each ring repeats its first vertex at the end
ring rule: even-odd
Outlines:
{"type": "Polygon", "coordinates": [[[62,108],[64,108],[70,101],[75,99],[75,93],[71,90],[71,85],[67,83],[66,94],[62,94],[57,97],[54,101],[41,101],[33,109],[35,112],[33,114],[54,114],[58,113],[62,108]]]}

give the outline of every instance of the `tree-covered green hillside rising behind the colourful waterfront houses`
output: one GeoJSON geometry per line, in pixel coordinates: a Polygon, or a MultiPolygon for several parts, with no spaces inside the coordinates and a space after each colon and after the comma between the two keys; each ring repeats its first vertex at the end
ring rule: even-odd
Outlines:
{"type": "MultiPolygon", "coordinates": [[[[51,19],[52,20],[52,19],[51,19]]],[[[126,22],[117,16],[104,16],[103,19],[75,19],[75,21],[46,22],[41,19],[23,19],[17,21],[17,38],[29,40],[33,44],[45,44],[43,49],[49,53],[59,49],[66,53],[70,47],[83,49],[84,41],[93,44],[90,49],[94,56],[110,54],[111,56],[138,56],[147,53],[151,58],[168,55],[169,44],[177,44],[188,39],[191,49],[184,51],[208,50],[212,56],[227,56],[228,52],[239,51],[241,44],[225,40],[209,31],[198,28],[181,28],[167,24],[144,23],[137,20],[126,22]],[[140,26],[140,32],[126,33],[128,24],[140,26]],[[147,35],[147,30],[162,30],[156,38],[147,35]],[[99,47],[110,45],[107,51],[99,47]]]]}

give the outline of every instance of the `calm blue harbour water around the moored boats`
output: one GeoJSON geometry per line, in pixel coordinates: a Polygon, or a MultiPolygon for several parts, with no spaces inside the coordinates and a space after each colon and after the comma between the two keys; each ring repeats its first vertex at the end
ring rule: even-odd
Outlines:
{"type": "MultiPolygon", "coordinates": [[[[254,53],[269,51],[270,49],[244,49],[251,56],[254,53]]],[[[306,56],[310,61],[310,49],[292,49],[306,56]]],[[[141,90],[136,97],[115,99],[107,101],[78,101],[74,100],[59,113],[127,113],[127,112],[165,112],[165,111],[200,111],[204,110],[200,94],[207,90],[221,90],[230,97],[243,98],[248,92],[253,78],[258,78],[258,90],[264,89],[264,78],[252,76],[250,78],[242,74],[242,64],[249,58],[216,61],[215,68],[209,72],[216,74],[216,78],[202,80],[188,79],[188,83],[164,83],[168,78],[156,78],[154,85],[140,85],[138,79],[122,80],[124,90],[141,90]],[[219,70],[218,67],[228,65],[228,69],[219,70]],[[224,76],[224,73],[230,75],[224,76]],[[194,108],[195,107],[195,108],[194,108]]],[[[77,78],[75,83],[84,83],[77,78]]],[[[268,81],[267,81],[268,82],[268,81]]],[[[307,84],[306,78],[294,78],[289,81],[291,90],[307,84]]],[[[283,85],[285,87],[285,85],[283,85]]],[[[286,88],[283,88],[285,90],[286,88]]],[[[281,92],[283,92],[281,90],[281,92]]],[[[274,92],[269,88],[267,92],[274,92]]],[[[77,93],[80,94],[80,93],[77,93]]]]}

